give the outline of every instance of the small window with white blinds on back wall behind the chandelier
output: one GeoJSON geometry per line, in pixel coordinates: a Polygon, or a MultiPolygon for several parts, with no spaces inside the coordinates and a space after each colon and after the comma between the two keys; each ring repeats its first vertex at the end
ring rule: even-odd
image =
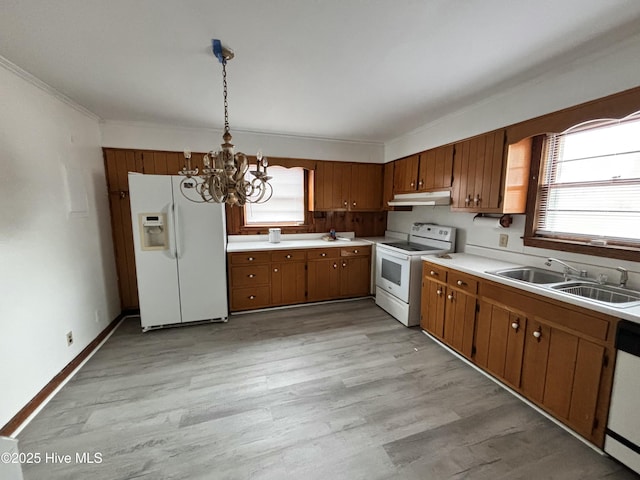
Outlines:
{"type": "MultiPolygon", "coordinates": [[[[247,180],[253,178],[247,172],[247,180]]],[[[269,167],[271,199],[244,206],[245,225],[301,225],[304,223],[304,169],[269,167]]]]}

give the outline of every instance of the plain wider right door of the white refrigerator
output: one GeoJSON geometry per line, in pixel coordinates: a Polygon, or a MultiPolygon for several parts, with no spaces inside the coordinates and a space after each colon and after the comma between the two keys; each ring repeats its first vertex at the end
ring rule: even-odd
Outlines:
{"type": "Polygon", "coordinates": [[[171,178],[182,321],[226,319],[224,205],[186,199],[180,191],[184,177],[171,178]]]}

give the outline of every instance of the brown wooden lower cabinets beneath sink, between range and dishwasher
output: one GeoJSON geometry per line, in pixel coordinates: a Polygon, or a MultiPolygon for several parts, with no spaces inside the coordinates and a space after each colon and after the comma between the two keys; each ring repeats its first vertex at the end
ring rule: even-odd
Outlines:
{"type": "Polygon", "coordinates": [[[616,318],[428,262],[421,314],[427,332],[603,446],[616,318]]]}

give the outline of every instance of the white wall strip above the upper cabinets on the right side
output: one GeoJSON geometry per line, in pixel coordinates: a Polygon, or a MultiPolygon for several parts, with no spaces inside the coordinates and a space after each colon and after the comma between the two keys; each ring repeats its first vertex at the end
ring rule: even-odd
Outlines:
{"type": "Polygon", "coordinates": [[[387,142],[385,161],[636,87],[638,58],[635,35],[387,142]]]}

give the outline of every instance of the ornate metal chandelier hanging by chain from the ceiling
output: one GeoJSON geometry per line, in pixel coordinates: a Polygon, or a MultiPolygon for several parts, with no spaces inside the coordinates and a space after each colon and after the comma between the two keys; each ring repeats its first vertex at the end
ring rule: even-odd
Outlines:
{"type": "Polygon", "coordinates": [[[234,153],[229,133],[229,112],[227,103],[227,62],[234,57],[233,50],[222,46],[220,40],[211,40],[213,54],[222,64],[222,85],[224,92],[224,143],[219,151],[210,151],[203,157],[204,168],[191,168],[191,151],[184,151],[185,165],[178,171],[185,178],[180,182],[182,194],[197,203],[226,203],[242,206],[246,203],[264,203],[271,198],[272,177],[267,174],[269,162],[258,151],[256,169],[251,170],[247,180],[249,159],[244,153],[234,153]],[[188,181],[187,181],[188,180],[188,181]],[[196,194],[194,195],[193,192],[196,194]]]}

